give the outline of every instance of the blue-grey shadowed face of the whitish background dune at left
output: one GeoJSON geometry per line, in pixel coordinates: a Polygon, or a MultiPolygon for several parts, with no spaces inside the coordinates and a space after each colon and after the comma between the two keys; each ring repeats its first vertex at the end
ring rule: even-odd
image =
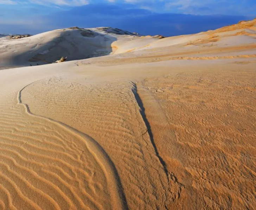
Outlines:
{"type": "Polygon", "coordinates": [[[111,44],[117,40],[109,34],[101,34],[89,29],[60,29],[50,33],[29,37],[24,45],[31,45],[31,48],[27,47],[27,50],[9,56],[8,64],[30,66],[53,63],[62,56],[67,57],[66,61],[105,56],[113,51],[111,44]],[[44,39],[49,41],[44,42],[44,39]]]}

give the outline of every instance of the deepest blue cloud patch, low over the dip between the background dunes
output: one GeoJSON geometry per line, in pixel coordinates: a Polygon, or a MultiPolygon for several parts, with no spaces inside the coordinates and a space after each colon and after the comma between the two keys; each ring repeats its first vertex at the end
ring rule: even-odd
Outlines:
{"type": "Polygon", "coordinates": [[[210,16],[210,15],[185,15],[185,14],[152,14],[129,21],[122,20],[117,25],[123,25],[126,30],[137,31],[141,34],[161,34],[175,36],[193,34],[201,31],[213,30],[222,26],[237,23],[245,19],[244,16],[210,16]]]}

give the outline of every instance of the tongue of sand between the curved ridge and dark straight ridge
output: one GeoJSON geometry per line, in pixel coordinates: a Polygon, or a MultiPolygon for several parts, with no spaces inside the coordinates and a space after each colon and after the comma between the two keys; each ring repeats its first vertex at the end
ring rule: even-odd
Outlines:
{"type": "Polygon", "coordinates": [[[179,197],[181,186],[154,145],[136,84],[83,84],[80,79],[40,80],[25,89],[23,100],[33,113],[72,125],[104,148],[117,168],[129,209],[164,209],[179,197]]]}

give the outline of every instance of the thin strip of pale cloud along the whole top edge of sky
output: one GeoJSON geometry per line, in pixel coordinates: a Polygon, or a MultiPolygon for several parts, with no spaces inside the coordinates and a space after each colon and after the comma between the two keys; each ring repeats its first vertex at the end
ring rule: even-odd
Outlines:
{"type": "Polygon", "coordinates": [[[43,5],[46,7],[70,7],[99,3],[105,5],[133,4],[137,8],[147,8],[156,13],[182,13],[182,14],[237,14],[256,15],[255,0],[0,0],[6,5],[43,5]]]}

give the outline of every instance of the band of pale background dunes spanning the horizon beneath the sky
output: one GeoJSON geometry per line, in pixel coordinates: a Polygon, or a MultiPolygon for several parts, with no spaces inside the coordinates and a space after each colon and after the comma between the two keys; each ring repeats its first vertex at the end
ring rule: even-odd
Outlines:
{"type": "MultiPolygon", "coordinates": [[[[0,38],[0,65],[5,68],[53,63],[172,47],[172,51],[195,51],[204,47],[235,47],[256,43],[256,20],[193,35],[163,38],[141,36],[110,27],[58,29],[12,40],[0,38]],[[199,49],[198,49],[199,48],[199,49]]],[[[201,52],[201,49],[200,49],[201,52]]]]}

